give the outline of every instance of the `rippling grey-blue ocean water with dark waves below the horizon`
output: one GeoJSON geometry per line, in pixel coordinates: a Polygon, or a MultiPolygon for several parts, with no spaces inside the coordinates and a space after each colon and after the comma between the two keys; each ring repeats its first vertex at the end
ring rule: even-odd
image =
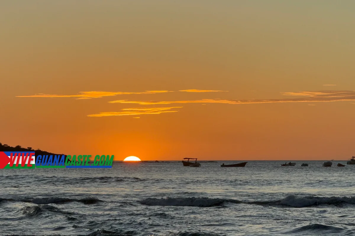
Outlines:
{"type": "Polygon", "coordinates": [[[355,235],[355,165],[237,162],[2,169],[0,235],[355,235]]]}

